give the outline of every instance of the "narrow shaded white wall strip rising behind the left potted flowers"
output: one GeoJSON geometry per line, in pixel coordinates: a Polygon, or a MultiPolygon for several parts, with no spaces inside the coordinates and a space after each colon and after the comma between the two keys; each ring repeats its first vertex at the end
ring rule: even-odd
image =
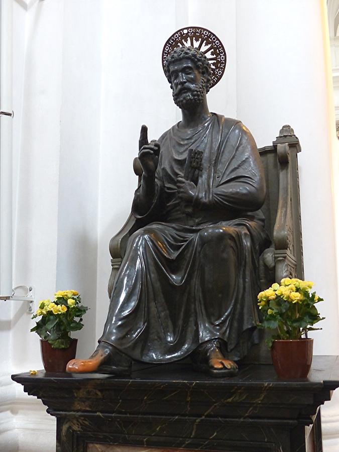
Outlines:
{"type": "Polygon", "coordinates": [[[96,340],[101,18],[100,2],[64,2],[56,289],[76,288],[89,307],[74,334],[82,356],[96,340]]]}

